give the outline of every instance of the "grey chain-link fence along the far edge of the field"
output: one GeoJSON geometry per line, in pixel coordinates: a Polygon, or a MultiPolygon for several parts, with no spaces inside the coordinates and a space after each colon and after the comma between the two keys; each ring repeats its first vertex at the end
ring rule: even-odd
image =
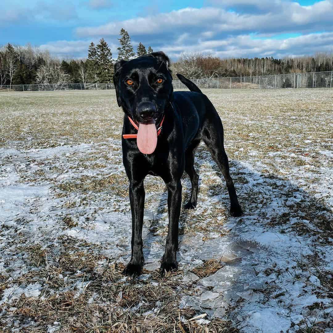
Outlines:
{"type": "MultiPolygon", "coordinates": [[[[191,80],[200,89],[279,89],[279,88],[332,88],[333,72],[293,73],[280,75],[243,76],[231,78],[204,78],[191,80]]],[[[179,80],[172,81],[174,89],[186,89],[179,80]]],[[[0,92],[108,90],[113,83],[60,83],[0,86],[0,92]]]]}

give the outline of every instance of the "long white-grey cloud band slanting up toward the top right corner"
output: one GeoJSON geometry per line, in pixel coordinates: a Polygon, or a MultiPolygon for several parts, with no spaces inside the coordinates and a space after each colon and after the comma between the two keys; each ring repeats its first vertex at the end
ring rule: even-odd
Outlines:
{"type": "MultiPolygon", "coordinates": [[[[229,0],[231,3],[231,0],[229,0]]],[[[239,3],[245,3],[238,0],[239,3]]],[[[79,27],[79,36],[114,36],[121,28],[131,35],[153,35],[175,32],[193,33],[196,30],[214,31],[215,33],[239,32],[299,32],[300,29],[313,31],[333,28],[333,2],[323,0],[311,6],[301,6],[297,2],[275,1],[273,6],[268,0],[254,1],[261,7],[270,6],[267,12],[242,13],[228,12],[220,7],[184,8],[169,13],[160,13],[138,17],[120,22],[110,22],[98,27],[79,27]]]]}

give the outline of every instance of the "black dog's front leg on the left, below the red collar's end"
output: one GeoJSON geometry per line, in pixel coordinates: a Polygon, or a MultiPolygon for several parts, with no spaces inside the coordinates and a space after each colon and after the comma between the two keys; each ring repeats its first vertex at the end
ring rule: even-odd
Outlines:
{"type": "Polygon", "coordinates": [[[142,251],[142,225],[144,219],[145,188],[141,180],[130,181],[130,202],[132,211],[132,257],[123,271],[125,275],[140,275],[145,262],[142,251]]]}

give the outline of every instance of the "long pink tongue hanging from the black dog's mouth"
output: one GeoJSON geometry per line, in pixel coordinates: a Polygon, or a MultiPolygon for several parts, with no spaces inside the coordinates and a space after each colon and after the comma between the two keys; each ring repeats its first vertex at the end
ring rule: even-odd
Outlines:
{"type": "Polygon", "coordinates": [[[137,145],[141,153],[152,154],[154,153],[157,145],[157,130],[155,121],[149,124],[139,124],[137,145]]]}

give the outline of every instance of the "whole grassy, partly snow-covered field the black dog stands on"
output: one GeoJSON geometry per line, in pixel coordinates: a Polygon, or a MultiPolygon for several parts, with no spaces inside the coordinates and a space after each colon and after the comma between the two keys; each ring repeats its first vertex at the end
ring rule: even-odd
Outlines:
{"type": "Polygon", "coordinates": [[[179,270],[164,278],[167,193],[153,176],[144,272],[121,275],[131,211],[115,92],[1,94],[1,332],[333,332],[333,90],[203,91],[244,215],[229,215],[201,144],[198,206],[181,211],[179,270]]]}

